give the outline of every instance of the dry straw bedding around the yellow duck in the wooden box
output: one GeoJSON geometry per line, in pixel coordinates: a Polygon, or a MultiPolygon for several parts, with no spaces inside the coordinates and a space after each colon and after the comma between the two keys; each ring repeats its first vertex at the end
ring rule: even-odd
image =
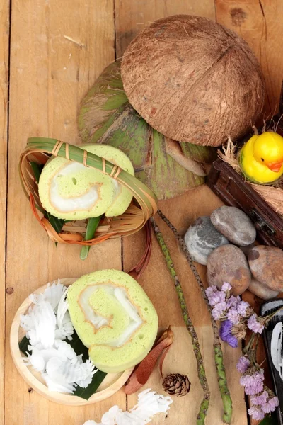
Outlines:
{"type": "MultiPolygon", "coordinates": [[[[229,164],[238,174],[243,175],[241,167],[238,164],[238,152],[236,145],[233,144],[231,138],[227,142],[226,148],[223,147],[223,151],[218,150],[219,158],[229,164]]],[[[245,178],[246,179],[246,178],[245,178]]],[[[275,183],[272,186],[255,184],[246,180],[246,183],[253,187],[258,194],[275,210],[279,215],[283,215],[283,188],[280,182],[275,183]]]]}

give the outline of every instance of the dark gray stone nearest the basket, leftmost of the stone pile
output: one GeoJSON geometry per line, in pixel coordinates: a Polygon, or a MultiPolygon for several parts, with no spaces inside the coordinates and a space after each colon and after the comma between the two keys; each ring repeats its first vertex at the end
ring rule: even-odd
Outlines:
{"type": "Polygon", "coordinates": [[[209,254],[218,246],[229,244],[229,241],[215,229],[210,218],[204,216],[187,229],[185,244],[192,259],[205,266],[209,254]]]}

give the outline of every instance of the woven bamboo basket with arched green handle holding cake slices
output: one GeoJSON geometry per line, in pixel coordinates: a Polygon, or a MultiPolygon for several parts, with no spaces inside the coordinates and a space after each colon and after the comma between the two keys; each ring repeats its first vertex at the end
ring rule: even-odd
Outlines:
{"type": "Polygon", "coordinates": [[[53,242],[91,246],[106,239],[134,234],[144,227],[157,210],[157,199],[151,189],[127,171],[81,147],[69,145],[56,139],[30,137],[20,157],[19,173],[23,191],[30,201],[33,215],[53,242]],[[133,201],[127,211],[118,217],[103,218],[93,239],[87,241],[83,240],[86,232],[86,220],[66,222],[61,232],[57,232],[48,220],[40,202],[37,179],[31,165],[33,163],[44,165],[52,155],[79,162],[116,179],[117,182],[132,192],[133,201]]]}

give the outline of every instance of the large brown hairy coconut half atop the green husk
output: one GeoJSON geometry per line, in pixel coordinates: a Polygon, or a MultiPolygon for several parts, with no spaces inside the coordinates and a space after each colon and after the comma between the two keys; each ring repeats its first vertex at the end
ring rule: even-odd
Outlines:
{"type": "Polygon", "coordinates": [[[129,102],[167,137],[219,146],[262,111],[260,66],[246,41],[207,18],[177,15],[145,28],[122,59],[129,102]]]}

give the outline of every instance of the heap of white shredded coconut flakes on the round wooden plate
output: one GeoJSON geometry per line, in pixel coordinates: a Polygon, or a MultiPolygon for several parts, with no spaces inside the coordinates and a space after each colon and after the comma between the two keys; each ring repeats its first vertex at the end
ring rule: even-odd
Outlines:
{"type": "Polygon", "coordinates": [[[82,355],[77,356],[64,341],[74,334],[66,295],[67,288],[59,280],[48,284],[43,293],[31,295],[33,306],[21,316],[21,327],[26,331],[31,352],[23,361],[42,373],[50,391],[71,394],[77,385],[86,388],[97,369],[90,360],[83,362],[82,355]]]}

